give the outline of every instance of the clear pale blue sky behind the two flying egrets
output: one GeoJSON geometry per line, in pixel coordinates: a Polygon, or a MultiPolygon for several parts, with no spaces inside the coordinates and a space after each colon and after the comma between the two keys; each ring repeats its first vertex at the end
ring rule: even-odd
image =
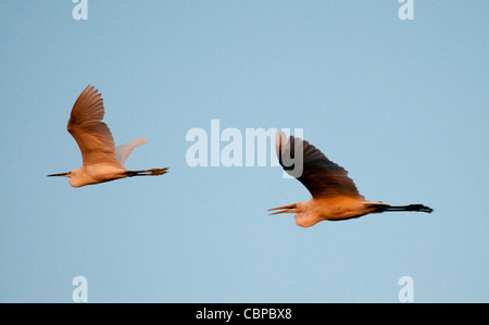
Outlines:
{"type": "MultiPolygon", "coordinates": [[[[4,1],[0,301],[489,302],[488,1],[4,1]],[[72,188],[92,84],[128,168],[72,188]],[[432,214],[298,227],[280,167],[190,167],[192,127],[302,128],[361,193],[432,214]]],[[[224,147],[226,143],[222,143],[224,147]]]]}

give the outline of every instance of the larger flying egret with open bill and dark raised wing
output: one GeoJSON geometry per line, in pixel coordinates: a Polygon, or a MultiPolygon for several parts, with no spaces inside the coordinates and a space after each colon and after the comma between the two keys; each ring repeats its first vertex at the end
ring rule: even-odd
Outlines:
{"type": "Polygon", "coordinates": [[[271,214],[297,213],[296,223],[301,227],[310,227],[324,220],[340,221],[386,211],[432,212],[431,208],[423,204],[396,207],[365,200],[348,177],[348,172],[305,140],[290,136],[287,141],[286,135],[277,132],[275,147],[280,165],[292,176],[293,166],[285,164],[284,158],[294,157],[296,149],[303,150],[302,174],[296,178],[309,189],[312,199],[268,211],[281,210],[271,214]]]}

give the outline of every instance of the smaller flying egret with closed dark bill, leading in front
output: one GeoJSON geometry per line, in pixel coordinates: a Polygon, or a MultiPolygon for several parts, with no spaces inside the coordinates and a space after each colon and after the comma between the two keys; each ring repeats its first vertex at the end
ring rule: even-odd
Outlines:
{"type": "Polygon", "coordinates": [[[133,149],[148,143],[148,140],[139,137],[115,147],[111,130],[102,122],[103,115],[101,93],[88,85],[73,105],[67,124],[67,130],[82,151],[83,166],[67,173],[48,176],[70,177],[71,186],[82,187],[133,176],[158,176],[167,172],[168,168],[127,171],[124,162],[133,149]]]}

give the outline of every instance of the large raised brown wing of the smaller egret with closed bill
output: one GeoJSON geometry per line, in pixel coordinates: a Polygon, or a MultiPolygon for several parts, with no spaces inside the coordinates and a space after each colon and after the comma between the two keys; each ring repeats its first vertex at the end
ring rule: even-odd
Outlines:
{"type": "Polygon", "coordinates": [[[109,163],[120,165],[115,158],[114,139],[102,122],[103,100],[93,86],[88,85],[76,100],[67,124],[67,130],[78,143],[84,165],[109,163]]]}

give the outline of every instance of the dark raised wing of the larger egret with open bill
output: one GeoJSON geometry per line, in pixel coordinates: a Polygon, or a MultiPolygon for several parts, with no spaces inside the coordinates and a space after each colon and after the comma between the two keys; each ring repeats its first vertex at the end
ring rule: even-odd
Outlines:
{"type": "Polygon", "coordinates": [[[323,152],[308,141],[293,136],[290,136],[287,141],[285,134],[280,136],[277,133],[276,149],[278,161],[284,170],[299,179],[313,198],[330,198],[338,195],[362,197],[353,180],[348,177],[348,172],[328,160],[323,152]],[[283,161],[283,158],[296,157],[296,148],[303,150],[302,174],[299,177],[291,173],[293,166],[287,166],[283,161]]]}

